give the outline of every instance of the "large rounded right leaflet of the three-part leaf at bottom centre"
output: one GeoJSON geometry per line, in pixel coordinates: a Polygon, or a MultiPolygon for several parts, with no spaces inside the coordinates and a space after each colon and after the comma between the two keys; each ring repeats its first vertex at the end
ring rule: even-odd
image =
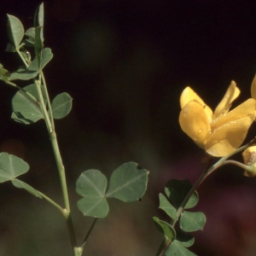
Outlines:
{"type": "Polygon", "coordinates": [[[128,162],[113,171],[107,197],[120,201],[137,201],[143,197],[148,183],[148,171],[137,163],[128,162]]]}

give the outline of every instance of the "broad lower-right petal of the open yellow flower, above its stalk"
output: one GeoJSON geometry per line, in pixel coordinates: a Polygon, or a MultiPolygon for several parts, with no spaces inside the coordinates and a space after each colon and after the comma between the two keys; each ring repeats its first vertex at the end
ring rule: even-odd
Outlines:
{"type": "Polygon", "coordinates": [[[206,151],[221,157],[233,153],[241,146],[255,118],[256,101],[248,99],[229,113],[212,123],[212,134],[208,137],[206,151]]]}

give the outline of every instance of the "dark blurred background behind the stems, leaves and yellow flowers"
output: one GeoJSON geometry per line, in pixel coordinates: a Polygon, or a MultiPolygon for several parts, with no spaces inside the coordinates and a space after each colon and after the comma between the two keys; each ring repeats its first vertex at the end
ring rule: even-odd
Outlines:
{"type": "MultiPolygon", "coordinates": [[[[21,62],[4,52],[6,14],[32,26],[41,1],[2,0],[0,62],[14,71],[21,62]]],[[[79,243],[92,224],[76,209],[75,182],[98,169],[108,178],[127,161],[149,173],[142,201],[110,201],[86,244],[86,255],[155,255],[161,236],[152,217],[168,218],[158,195],[171,178],[194,183],[204,152],[178,125],[179,96],[190,85],[213,109],[230,81],[250,97],[256,71],[254,1],[52,0],[44,2],[44,46],[54,58],[44,69],[51,98],[67,91],[73,110],[56,120],[79,243]]],[[[21,86],[29,84],[20,82],[21,86]]],[[[1,83],[0,151],[30,165],[20,177],[62,205],[55,160],[42,120],[20,125],[10,119],[15,89],[1,83]]],[[[235,104],[235,105],[236,105],[235,104]]],[[[253,126],[246,142],[255,136],[253,126]]],[[[241,160],[241,157],[237,157],[241,160]]],[[[10,183],[0,186],[0,255],[72,255],[61,214],[10,183]]],[[[199,256],[254,256],[256,180],[224,166],[198,189],[196,211],[207,215],[191,250],[199,256]]]]}

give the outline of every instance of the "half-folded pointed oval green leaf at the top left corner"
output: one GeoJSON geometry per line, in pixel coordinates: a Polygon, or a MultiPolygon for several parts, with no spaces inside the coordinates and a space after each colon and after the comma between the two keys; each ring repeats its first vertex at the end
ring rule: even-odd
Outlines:
{"type": "Polygon", "coordinates": [[[19,19],[13,15],[7,15],[8,17],[8,37],[10,42],[15,46],[15,49],[19,49],[20,42],[24,37],[24,27],[19,19]]]}

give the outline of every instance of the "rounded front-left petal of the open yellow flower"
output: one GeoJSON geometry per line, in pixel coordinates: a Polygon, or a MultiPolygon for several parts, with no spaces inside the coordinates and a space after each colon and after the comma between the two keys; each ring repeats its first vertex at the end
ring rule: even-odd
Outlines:
{"type": "Polygon", "coordinates": [[[182,130],[201,148],[211,131],[205,108],[197,101],[187,103],[179,114],[179,124],[182,130]]]}

